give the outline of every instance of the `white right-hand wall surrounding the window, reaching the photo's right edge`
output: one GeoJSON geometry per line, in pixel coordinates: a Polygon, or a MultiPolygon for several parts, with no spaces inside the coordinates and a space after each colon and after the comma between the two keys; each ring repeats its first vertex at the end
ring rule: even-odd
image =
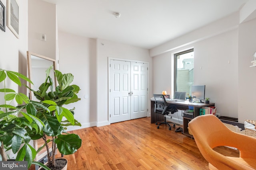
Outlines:
{"type": "MultiPolygon", "coordinates": [[[[240,122],[244,119],[256,119],[256,109],[253,106],[253,86],[256,84],[253,77],[256,68],[249,68],[256,51],[256,21],[239,24],[239,15],[232,14],[206,27],[201,28],[202,34],[201,29],[198,29],[183,35],[183,41],[178,38],[150,50],[150,54],[159,54],[153,59],[154,82],[162,79],[157,74],[170,72],[169,62],[173,53],[194,47],[194,84],[206,85],[206,97],[216,104],[217,113],[236,117],[240,122]],[[232,20],[232,24],[223,27],[222,23],[228,23],[229,20],[232,20]],[[205,34],[206,27],[212,29],[208,30],[208,35],[205,34]],[[218,33],[214,30],[216,27],[218,33]],[[175,47],[175,44],[178,46],[175,47]],[[168,47],[170,50],[167,50],[168,47]],[[163,64],[164,61],[166,64],[163,64]],[[159,67],[164,69],[158,70],[159,67]]],[[[170,90],[171,78],[167,77],[166,86],[155,83],[153,92],[170,90]]]]}

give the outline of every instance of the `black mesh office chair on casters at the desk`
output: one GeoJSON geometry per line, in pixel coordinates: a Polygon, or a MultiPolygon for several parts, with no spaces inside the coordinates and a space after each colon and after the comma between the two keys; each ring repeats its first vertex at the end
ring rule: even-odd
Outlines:
{"type": "MultiPolygon", "coordinates": [[[[158,123],[160,123],[157,127],[157,129],[159,129],[159,126],[162,124],[166,124],[169,126],[169,130],[171,130],[171,126],[170,123],[172,122],[167,122],[166,121],[166,115],[168,115],[169,113],[173,114],[175,112],[177,112],[177,108],[175,105],[167,105],[167,102],[164,98],[164,95],[162,94],[153,94],[154,98],[155,98],[155,113],[159,113],[164,115],[164,121],[157,121],[156,125],[158,125],[158,123]]],[[[175,128],[175,124],[173,124],[173,127],[175,128]]]]}

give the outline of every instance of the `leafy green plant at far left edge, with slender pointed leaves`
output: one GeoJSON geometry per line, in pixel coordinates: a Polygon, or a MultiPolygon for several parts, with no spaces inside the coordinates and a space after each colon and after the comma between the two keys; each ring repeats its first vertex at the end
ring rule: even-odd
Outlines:
{"type": "Polygon", "coordinates": [[[14,154],[17,153],[17,161],[28,161],[28,167],[32,163],[45,167],[40,162],[33,162],[36,150],[29,144],[31,139],[27,129],[34,130],[37,134],[44,127],[44,123],[35,116],[36,110],[32,108],[37,107],[48,112],[50,110],[38,102],[29,100],[25,94],[7,88],[10,81],[22,86],[20,78],[32,83],[23,74],[0,69],[0,93],[4,96],[3,103],[0,104],[0,161],[6,161],[6,151],[12,150],[14,154]]]}

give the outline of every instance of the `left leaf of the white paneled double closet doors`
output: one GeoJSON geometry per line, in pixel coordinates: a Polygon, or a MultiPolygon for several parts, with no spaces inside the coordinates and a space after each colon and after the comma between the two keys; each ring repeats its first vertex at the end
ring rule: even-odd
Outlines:
{"type": "Polygon", "coordinates": [[[110,123],[131,119],[130,64],[110,60],[110,123]]]}

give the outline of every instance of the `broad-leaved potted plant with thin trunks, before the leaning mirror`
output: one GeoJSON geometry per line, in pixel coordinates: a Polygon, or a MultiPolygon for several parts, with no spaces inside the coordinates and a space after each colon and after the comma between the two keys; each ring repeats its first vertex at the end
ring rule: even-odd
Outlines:
{"type": "MultiPolygon", "coordinates": [[[[77,134],[70,134],[66,132],[66,126],[81,124],[74,119],[74,108],[67,109],[63,105],[74,103],[80,100],[76,95],[80,88],[77,85],[70,85],[74,79],[71,73],[62,74],[58,70],[54,70],[58,86],[54,89],[54,82],[50,75],[52,66],[46,70],[46,80],[41,84],[39,90],[34,92],[35,97],[47,107],[50,112],[46,109],[38,109],[36,116],[42,120],[45,127],[42,128],[41,133],[33,134],[34,131],[30,131],[30,137],[34,140],[42,138],[44,145],[47,150],[47,167],[54,169],[57,166],[57,159],[55,158],[56,149],[61,154],[73,154],[81,147],[82,140],[77,134]],[[50,91],[48,92],[48,89],[50,91]],[[66,120],[64,120],[66,118],[66,120]],[[51,139],[48,139],[51,137],[51,139]],[[52,145],[49,146],[49,142],[52,145]],[[52,153],[50,153],[50,148],[52,153]]],[[[27,87],[28,88],[28,87],[27,87]]],[[[41,148],[42,148],[41,147],[41,148]]]]}

